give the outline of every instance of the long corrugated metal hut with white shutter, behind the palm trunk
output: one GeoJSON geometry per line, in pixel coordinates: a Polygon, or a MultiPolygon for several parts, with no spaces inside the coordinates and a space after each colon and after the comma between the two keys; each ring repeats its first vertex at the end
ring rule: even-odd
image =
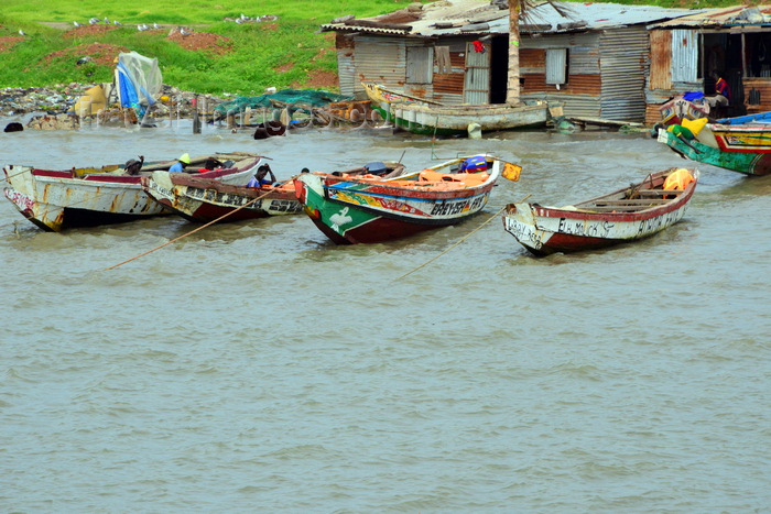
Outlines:
{"type": "MultiPolygon", "coordinates": [[[[613,3],[549,3],[521,22],[523,100],[562,100],[568,117],[642,121],[647,26],[693,11],[613,3]]],[[[340,92],[374,81],[449,105],[504,103],[506,1],[445,0],[390,14],[333,20],[340,92]],[[481,51],[484,48],[484,51],[481,51]]]]}

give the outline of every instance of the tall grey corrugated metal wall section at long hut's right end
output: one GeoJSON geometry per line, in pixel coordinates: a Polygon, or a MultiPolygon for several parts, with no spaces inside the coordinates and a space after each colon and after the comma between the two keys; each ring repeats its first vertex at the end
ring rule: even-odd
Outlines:
{"type": "Polygon", "coordinates": [[[599,45],[602,69],[600,117],[618,121],[645,118],[649,39],[644,26],[605,31],[599,45]]]}

